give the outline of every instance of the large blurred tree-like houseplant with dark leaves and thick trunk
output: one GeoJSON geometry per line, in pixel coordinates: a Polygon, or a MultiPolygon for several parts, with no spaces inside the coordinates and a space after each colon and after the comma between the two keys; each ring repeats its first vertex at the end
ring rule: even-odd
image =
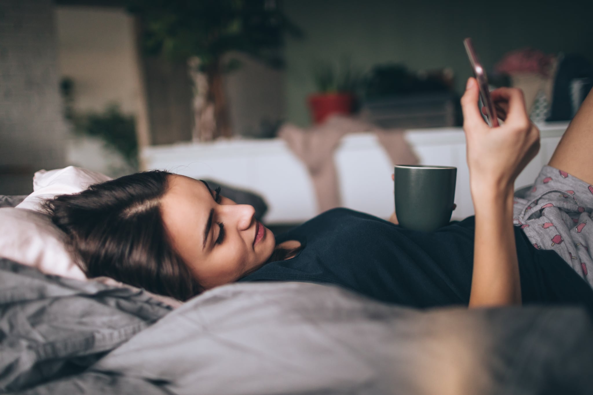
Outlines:
{"type": "Polygon", "coordinates": [[[276,0],[128,1],[129,11],[141,20],[145,50],[185,61],[190,75],[205,76],[206,92],[197,94],[204,98],[202,109],[213,108],[215,129],[208,139],[232,134],[223,76],[240,65],[224,55],[238,51],[280,67],[285,33],[301,35],[276,0]]]}

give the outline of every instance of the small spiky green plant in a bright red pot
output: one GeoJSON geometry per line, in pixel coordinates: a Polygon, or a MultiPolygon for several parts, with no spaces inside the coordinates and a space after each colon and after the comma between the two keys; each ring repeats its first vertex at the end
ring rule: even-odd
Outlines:
{"type": "Polygon", "coordinates": [[[318,63],[313,75],[317,92],[307,99],[313,122],[323,123],[333,114],[352,114],[361,74],[353,70],[349,62],[343,62],[341,68],[335,68],[330,63],[318,63]]]}

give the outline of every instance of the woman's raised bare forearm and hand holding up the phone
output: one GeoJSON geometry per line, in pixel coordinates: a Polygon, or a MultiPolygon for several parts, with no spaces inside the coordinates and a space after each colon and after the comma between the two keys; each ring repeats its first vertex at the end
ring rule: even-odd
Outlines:
{"type": "Polygon", "coordinates": [[[470,307],[521,303],[521,282],[512,223],[515,179],[539,150],[522,92],[492,92],[505,123],[490,129],[477,108],[478,88],[470,78],[461,99],[470,188],[476,211],[470,307]]]}

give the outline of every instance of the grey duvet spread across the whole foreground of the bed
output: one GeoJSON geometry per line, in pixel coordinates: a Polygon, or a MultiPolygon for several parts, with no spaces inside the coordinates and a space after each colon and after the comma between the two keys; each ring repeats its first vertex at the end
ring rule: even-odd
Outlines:
{"type": "Polygon", "coordinates": [[[592,371],[579,309],[419,311],[278,282],[171,311],[0,259],[0,392],[590,394],[592,371]]]}

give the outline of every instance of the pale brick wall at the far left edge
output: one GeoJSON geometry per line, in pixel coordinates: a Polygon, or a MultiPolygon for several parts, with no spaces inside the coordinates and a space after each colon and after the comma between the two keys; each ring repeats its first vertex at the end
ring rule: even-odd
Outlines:
{"type": "Polygon", "coordinates": [[[0,194],[31,191],[31,176],[64,165],[51,0],[0,1],[0,194]]]}

